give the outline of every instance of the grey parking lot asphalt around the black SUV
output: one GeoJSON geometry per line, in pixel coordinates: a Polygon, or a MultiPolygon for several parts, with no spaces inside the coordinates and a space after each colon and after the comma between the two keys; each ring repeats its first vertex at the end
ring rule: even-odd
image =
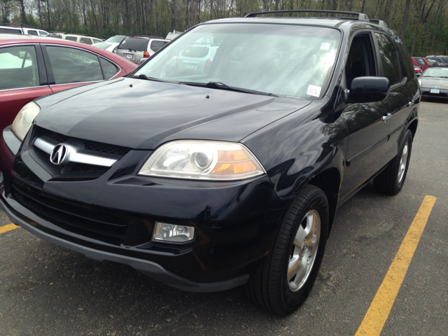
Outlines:
{"type": "Polygon", "coordinates": [[[286,317],[258,309],[243,288],[186,293],[89,260],[0,212],[0,335],[447,335],[447,134],[448,104],[421,103],[401,193],[370,184],[339,208],[311,295],[286,317]],[[400,255],[428,197],[414,251],[400,255]],[[397,255],[410,255],[404,274],[397,255]],[[365,324],[370,309],[377,315],[365,324]]]}

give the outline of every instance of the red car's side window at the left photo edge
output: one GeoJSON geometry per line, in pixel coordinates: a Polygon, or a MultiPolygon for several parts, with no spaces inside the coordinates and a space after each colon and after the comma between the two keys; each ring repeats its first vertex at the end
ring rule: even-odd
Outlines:
{"type": "Polygon", "coordinates": [[[33,45],[0,48],[0,90],[39,85],[33,45]]]}

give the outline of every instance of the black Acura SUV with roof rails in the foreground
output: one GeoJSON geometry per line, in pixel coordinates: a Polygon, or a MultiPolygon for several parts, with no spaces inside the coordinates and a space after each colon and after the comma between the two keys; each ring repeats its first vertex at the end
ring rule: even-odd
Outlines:
{"type": "Polygon", "coordinates": [[[383,22],[267,14],[204,22],[126,78],[27,104],[0,143],[11,221],[169,286],[246,285],[297,309],[339,205],[372,179],[402,189],[420,92],[383,22]],[[185,71],[195,45],[216,54],[185,71]]]}

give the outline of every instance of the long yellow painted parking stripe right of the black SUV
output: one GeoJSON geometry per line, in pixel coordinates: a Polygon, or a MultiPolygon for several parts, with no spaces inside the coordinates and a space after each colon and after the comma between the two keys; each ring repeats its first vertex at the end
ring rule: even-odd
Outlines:
{"type": "Polygon", "coordinates": [[[405,239],[403,239],[391,266],[384,277],[377,294],[372,300],[363,322],[360,324],[355,336],[369,335],[379,336],[381,330],[386,323],[389,313],[391,312],[395,297],[398,295],[403,279],[407,272],[407,267],[412,260],[415,249],[419,244],[423,229],[426,226],[431,210],[433,209],[435,200],[434,196],[426,195],[421,203],[414,221],[412,221],[405,239]]]}

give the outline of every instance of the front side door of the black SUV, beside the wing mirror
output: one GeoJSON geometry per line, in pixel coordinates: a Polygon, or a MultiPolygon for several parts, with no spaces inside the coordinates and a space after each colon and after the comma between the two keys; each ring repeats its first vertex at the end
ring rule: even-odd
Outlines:
{"type": "MultiPolygon", "coordinates": [[[[374,37],[361,32],[353,37],[346,61],[346,87],[361,76],[379,76],[374,37]]],[[[356,193],[364,183],[390,160],[388,152],[389,123],[386,118],[391,110],[388,99],[381,102],[347,104],[342,111],[349,132],[346,169],[340,188],[340,198],[356,193]]]]}

